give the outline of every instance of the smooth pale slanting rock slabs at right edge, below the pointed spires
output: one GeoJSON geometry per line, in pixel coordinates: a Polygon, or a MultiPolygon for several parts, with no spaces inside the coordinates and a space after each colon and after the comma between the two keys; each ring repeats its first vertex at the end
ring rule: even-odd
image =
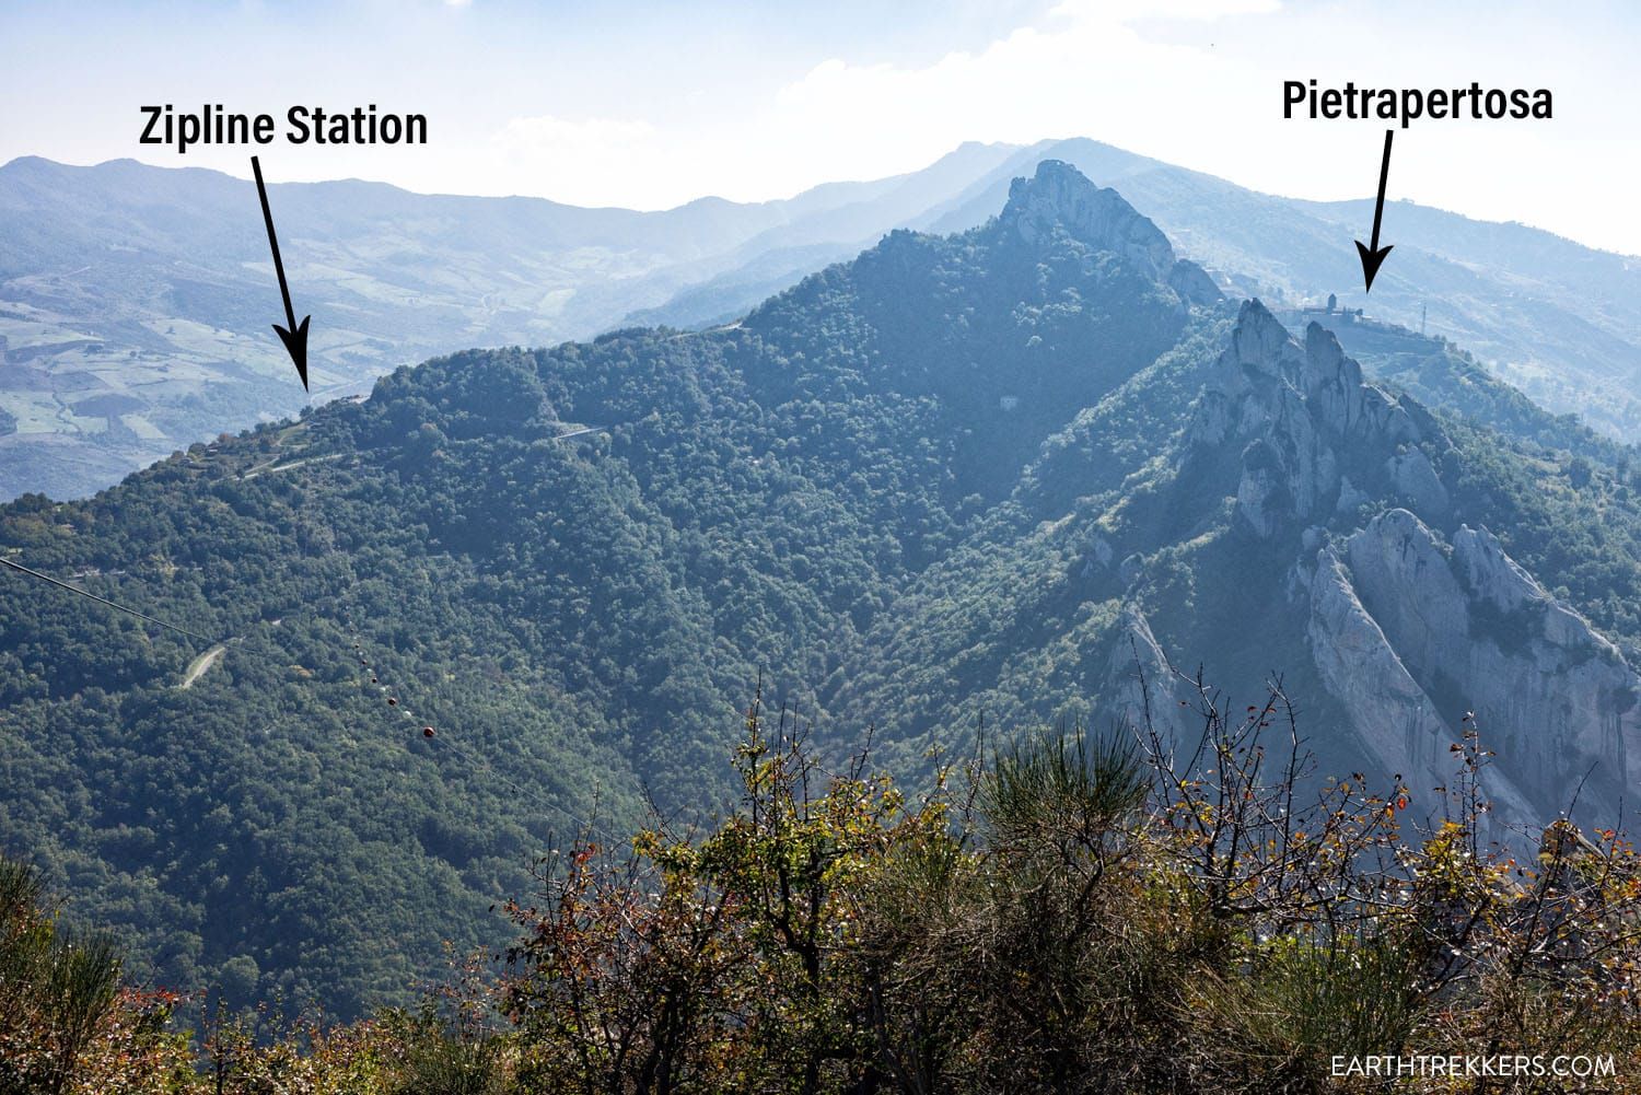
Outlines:
{"type": "Polygon", "coordinates": [[[1460,527],[1449,553],[1392,509],[1324,547],[1310,583],[1318,670],[1388,770],[1442,783],[1472,711],[1510,821],[1564,811],[1580,786],[1592,821],[1618,816],[1641,778],[1641,750],[1628,749],[1641,678],[1490,532],[1460,527]],[[1392,694],[1405,703],[1385,717],[1392,694]]]}

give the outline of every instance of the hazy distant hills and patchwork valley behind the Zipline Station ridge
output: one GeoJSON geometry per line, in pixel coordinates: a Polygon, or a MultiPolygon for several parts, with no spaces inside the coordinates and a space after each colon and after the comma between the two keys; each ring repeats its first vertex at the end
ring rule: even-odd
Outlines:
{"type": "MultiPolygon", "coordinates": [[[[587,338],[816,235],[853,254],[1011,151],[968,144],[909,176],[663,212],[277,177],[269,200],[313,314],[313,392],[335,399],[435,353],[587,338]]],[[[249,181],[133,161],[0,166],[0,497],[85,496],[295,414],[279,315],[249,181]]]]}

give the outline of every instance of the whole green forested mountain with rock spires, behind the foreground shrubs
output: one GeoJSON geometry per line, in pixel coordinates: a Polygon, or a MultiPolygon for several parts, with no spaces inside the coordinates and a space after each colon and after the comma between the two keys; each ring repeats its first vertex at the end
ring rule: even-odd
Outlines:
{"type": "Polygon", "coordinates": [[[1163,657],[1277,670],[1328,763],[1423,780],[1469,704],[1510,821],[1593,760],[1603,811],[1633,486],[1364,384],[1050,161],[737,323],[438,358],[5,506],[7,558],[197,637],[0,575],[0,842],[161,980],[353,1013],[494,941],[578,821],[709,809],[760,678],[911,765],[981,716],[1132,714],[1163,657]]]}

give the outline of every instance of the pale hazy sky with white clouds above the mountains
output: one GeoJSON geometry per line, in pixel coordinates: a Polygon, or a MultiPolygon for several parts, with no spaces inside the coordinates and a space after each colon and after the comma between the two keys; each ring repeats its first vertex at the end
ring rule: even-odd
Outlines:
{"type": "MultiPolygon", "coordinates": [[[[1382,123],[1285,121],[1282,82],[1549,87],[1552,121],[1423,121],[1390,197],[1641,254],[1641,3],[0,0],[0,161],[135,156],[138,105],[428,117],[407,148],[259,149],[384,179],[660,208],[911,171],[962,141],[1090,136],[1275,194],[1370,197],[1382,123]]],[[[1387,222],[1387,240],[1393,227],[1387,222]]]]}

